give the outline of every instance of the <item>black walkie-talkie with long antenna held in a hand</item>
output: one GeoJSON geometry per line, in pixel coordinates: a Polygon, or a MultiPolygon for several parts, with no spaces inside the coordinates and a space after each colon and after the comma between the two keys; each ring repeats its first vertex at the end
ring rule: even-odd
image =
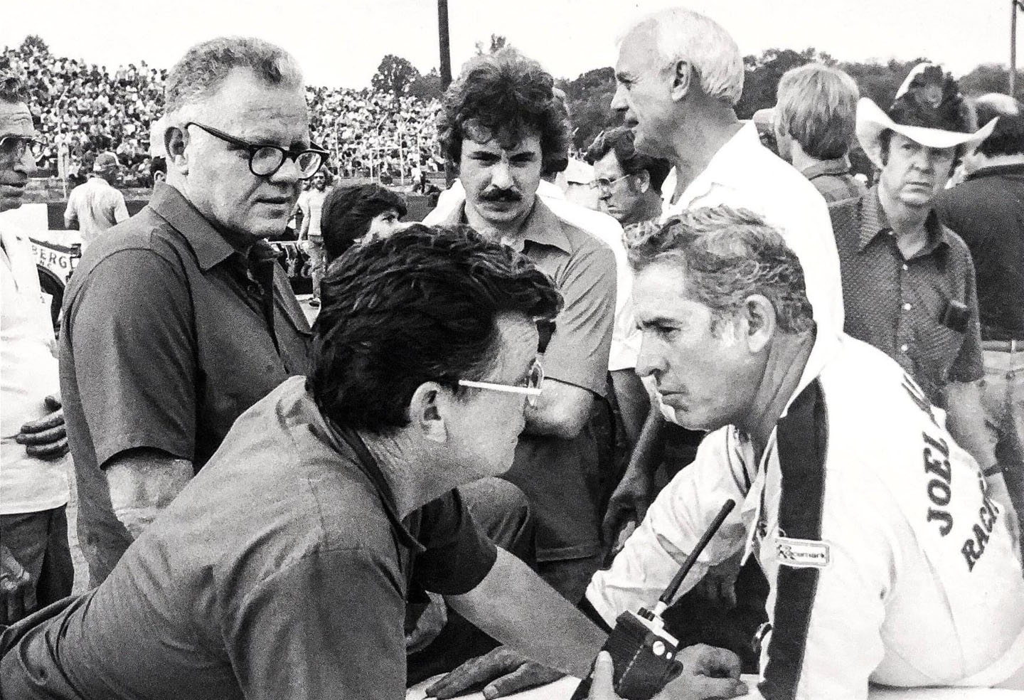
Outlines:
{"type": "MultiPolygon", "coordinates": [[[[701,535],[693,551],[657,599],[653,611],[645,608],[641,608],[638,613],[626,611],[615,619],[615,627],[601,649],[611,655],[612,685],[618,697],[626,700],[650,700],[682,672],[683,664],[676,658],[679,641],[665,630],[662,613],[672,603],[697,557],[735,505],[736,502],[730,498],[718,511],[711,527],[701,535]]],[[[590,674],[577,687],[571,700],[586,700],[593,675],[592,666],[590,674]]]]}

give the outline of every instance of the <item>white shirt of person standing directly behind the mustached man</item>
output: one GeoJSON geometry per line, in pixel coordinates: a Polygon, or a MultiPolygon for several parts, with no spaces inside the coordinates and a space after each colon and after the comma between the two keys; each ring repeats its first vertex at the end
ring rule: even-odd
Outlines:
{"type": "MultiPolygon", "coordinates": [[[[557,184],[541,180],[537,196],[554,212],[555,216],[579,229],[583,229],[604,242],[615,255],[615,320],[611,327],[611,352],[608,355],[608,371],[633,369],[637,366],[642,335],[637,330],[633,315],[633,271],[626,257],[623,242],[623,227],[614,218],[601,211],[593,211],[565,199],[565,194],[557,184]]],[[[456,179],[452,187],[437,198],[437,206],[427,214],[423,222],[427,225],[438,223],[451,216],[455,209],[466,201],[466,191],[456,179]]]]}

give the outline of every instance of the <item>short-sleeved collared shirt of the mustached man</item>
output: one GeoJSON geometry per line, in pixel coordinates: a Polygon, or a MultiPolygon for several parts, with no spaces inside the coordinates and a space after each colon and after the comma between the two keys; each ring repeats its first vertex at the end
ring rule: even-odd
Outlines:
{"type": "MultiPolygon", "coordinates": [[[[460,206],[443,223],[464,223],[464,211],[460,206]]],[[[544,354],[545,376],[603,397],[615,314],[611,249],[555,216],[540,198],[520,239],[522,254],[554,280],[564,299],[544,354]]],[[[601,475],[589,424],[572,440],[519,436],[515,461],[504,479],[522,489],[536,508],[538,561],[580,559],[600,550],[601,475]]]]}

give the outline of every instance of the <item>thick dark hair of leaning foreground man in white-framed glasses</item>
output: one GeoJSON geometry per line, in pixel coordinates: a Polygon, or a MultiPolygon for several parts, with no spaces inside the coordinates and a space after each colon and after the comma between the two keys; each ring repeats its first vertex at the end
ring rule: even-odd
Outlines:
{"type": "Polygon", "coordinates": [[[328,269],[306,386],[340,425],[387,434],[409,424],[422,383],[456,394],[486,376],[499,314],[550,323],[562,299],[525,257],[469,227],[414,224],[354,246],[328,269]]]}

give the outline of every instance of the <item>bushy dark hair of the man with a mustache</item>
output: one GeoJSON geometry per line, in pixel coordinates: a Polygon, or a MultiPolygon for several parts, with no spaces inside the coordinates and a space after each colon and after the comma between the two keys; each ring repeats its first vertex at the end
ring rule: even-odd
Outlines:
{"type": "Polygon", "coordinates": [[[568,112],[555,94],[555,81],[541,65],[514,48],[476,56],[444,93],[437,137],[444,157],[459,165],[462,141],[470,135],[518,143],[541,136],[545,173],[565,169],[570,142],[568,112]]]}

